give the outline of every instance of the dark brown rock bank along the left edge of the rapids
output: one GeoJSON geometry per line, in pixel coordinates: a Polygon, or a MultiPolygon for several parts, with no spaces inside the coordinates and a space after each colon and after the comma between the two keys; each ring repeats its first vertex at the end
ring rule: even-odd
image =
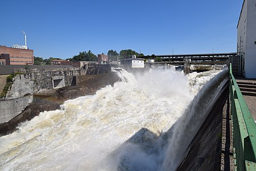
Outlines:
{"type": "Polygon", "coordinates": [[[95,94],[97,90],[106,85],[114,85],[119,80],[117,74],[109,72],[76,77],[76,86],[62,87],[53,95],[38,95],[18,116],[9,122],[0,124],[0,136],[11,134],[19,123],[31,120],[40,112],[60,109],[60,105],[68,99],[75,99],[84,95],[95,94]]]}

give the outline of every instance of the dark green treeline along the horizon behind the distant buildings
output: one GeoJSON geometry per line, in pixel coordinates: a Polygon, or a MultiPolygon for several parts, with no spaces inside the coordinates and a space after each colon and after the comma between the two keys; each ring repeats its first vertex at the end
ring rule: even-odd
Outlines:
{"type": "MultiPolygon", "coordinates": [[[[102,53],[104,54],[104,53],[102,53]]],[[[114,51],[113,49],[108,51],[109,60],[111,61],[117,61],[117,60],[122,60],[122,59],[129,59],[133,57],[133,55],[136,55],[137,58],[142,58],[142,59],[154,59],[156,62],[162,61],[160,57],[156,57],[154,54],[153,55],[147,55],[144,56],[143,53],[138,53],[135,52],[131,49],[125,49],[121,50],[119,53],[117,51],[114,51]]],[[[63,60],[60,58],[56,57],[49,57],[49,59],[43,59],[42,57],[35,57],[34,56],[34,65],[51,65],[52,60],[63,60]]],[[[73,56],[72,58],[66,59],[66,61],[97,61],[97,56],[92,53],[92,51],[84,51],[84,52],[79,52],[78,55],[73,56]]]]}

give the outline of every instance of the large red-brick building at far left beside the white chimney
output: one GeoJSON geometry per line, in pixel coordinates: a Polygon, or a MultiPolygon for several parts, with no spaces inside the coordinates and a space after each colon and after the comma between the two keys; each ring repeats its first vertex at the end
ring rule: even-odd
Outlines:
{"type": "Polygon", "coordinates": [[[5,59],[6,65],[32,65],[34,64],[34,51],[0,45],[0,59],[5,59]]]}

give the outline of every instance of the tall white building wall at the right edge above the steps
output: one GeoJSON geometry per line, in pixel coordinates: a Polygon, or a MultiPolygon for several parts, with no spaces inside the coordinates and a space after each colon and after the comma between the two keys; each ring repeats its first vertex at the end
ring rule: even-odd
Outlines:
{"type": "Polygon", "coordinates": [[[246,78],[256,78],[256,1],[243,0],[237,24],[237,52],[246,78]]]}

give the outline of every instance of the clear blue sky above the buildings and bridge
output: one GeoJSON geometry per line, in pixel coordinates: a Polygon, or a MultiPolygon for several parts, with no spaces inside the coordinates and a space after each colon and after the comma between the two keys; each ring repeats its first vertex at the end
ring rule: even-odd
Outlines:
{"type": "Polygon", "coordinates": [[[236,52],[242,0],[1,0],[0,45],[67,59],[133,49],[144,55],[236,52]]]}

